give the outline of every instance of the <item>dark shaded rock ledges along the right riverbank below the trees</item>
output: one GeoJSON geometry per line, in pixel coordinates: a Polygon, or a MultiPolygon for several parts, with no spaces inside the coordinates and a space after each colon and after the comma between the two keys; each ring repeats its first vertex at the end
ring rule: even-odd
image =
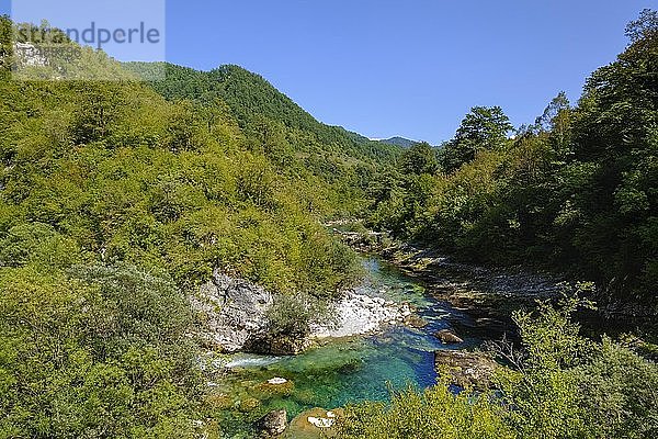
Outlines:
{"type": "MultiPolygon", "coordinates": [[[[374,232],[333,233],[358,251],[376,254],[395,263],[407,273],[421,279],[440,299],[456,306],[477,312],[483,318],[509,315],[510,303],[532,305],[537,299],[552,299],[568,289],[567,278],[555,272],[537,271],[522,266],[476,266],[457,261],[454,257],[430,249],[421,244],[396,241],[387,234],[374,232]],[[497,312],[501,311],[501,313],[497,312]]],[[[570,283],[575,283],[574,280],[570,283]]],[[[599,305],[595,315],[583,320],[604,322],[613,329],[627,327],[655,328],[658,308],[627,301],[611,301],[603,290],[590,299],[599,305]]],[[[519,306],[514,305],[512,308],[519,306]]],[[[600,326],[600,325],[597,325],[600,326]]]]}

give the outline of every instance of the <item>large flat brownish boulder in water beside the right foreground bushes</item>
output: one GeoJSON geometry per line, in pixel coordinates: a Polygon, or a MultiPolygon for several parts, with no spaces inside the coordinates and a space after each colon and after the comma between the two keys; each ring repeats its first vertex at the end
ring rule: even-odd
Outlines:
{"type": "Polygon", "coordinates": [[[447,373],[451,384],[489,389],[498,363],[485,353],[457,350],[434,352],[436,372],[447,373]]]}

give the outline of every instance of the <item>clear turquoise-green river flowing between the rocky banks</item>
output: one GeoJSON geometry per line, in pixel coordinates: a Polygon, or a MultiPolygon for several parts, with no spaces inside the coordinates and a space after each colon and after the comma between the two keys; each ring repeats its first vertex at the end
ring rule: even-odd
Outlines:
{"type": "Polygon", "coordinates": [[[436,380],[434,351],[449,348],[434,337],[440,329],[458,328],[464,342],[450,349],[473,348],[485,338],[499,337],[486,328],[483,334],[467,313],[434,299],[421,281],[395,266],[374,256],[361,259],[367,274],[360,293],[412,304],[429,325],[390,326],[367,337],[332,340],[296,357],[231,356],[226,360],[231,372],[211,383],[229,408],[223,423],[228,437],[249,437],[242,436],[248,435],[246,425],[273,409],[285,408],[294,417],[313,407],[387,401],[392,390],[431,386],[436,380]],[[263,385],[273,378],[288,384],[263,385]]]}

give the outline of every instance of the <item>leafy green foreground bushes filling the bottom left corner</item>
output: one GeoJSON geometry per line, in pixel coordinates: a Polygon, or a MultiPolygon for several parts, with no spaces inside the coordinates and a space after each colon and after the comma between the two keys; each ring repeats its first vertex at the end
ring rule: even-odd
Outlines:
{"type": "Polygon", "coordinates": [[[194,437],[189,305],[132,266],[0,270],[0,437],[194,437]]]}

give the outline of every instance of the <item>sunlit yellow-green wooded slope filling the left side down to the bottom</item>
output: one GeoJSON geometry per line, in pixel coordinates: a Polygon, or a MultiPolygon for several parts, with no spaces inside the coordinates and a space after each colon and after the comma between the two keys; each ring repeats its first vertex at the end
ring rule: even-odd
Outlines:
{"type": "Polygon", "coordinates": [[[351,285],[354,255],[320,222],[363,204],[374,153],[279,117],[291,101],[237,68],[217,75],[262,85],[243,95],[262,117],[241,80],[204,101],[185,78],[168,101],[91,50],[123,79],[12,80],[0,24],[0,437],[193,435],[186,294],[214,268],[316,300],[351,285]]]}

